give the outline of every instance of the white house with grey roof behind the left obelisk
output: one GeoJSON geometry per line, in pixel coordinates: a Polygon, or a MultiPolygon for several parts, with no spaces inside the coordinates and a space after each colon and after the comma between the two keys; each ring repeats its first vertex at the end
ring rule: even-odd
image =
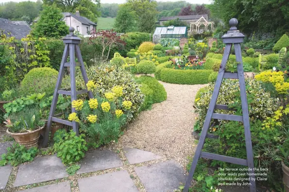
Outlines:
{"type": "MultiPolygon", "coordinates": [[[[90,21],[88,18],[84,16],[80,16],[79,11],[76,11],[75,14],[64,12],[63,21],[69,26],[73,27],[75,31],[78,31],[82,35],[89,35],[90,30],[96,29],[97,24],[90,21]]],[[[34,22],[37,22],[39,17],[37,17],[34,22]]]]}

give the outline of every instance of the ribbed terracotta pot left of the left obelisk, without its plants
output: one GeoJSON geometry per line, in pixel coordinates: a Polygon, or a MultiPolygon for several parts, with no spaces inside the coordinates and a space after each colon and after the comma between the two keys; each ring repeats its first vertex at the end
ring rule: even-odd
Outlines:
{"type": "Polygon", "coordinates": [[[40,137],[40,132],[44,127],[40,127],[37,130],[34,130],[32,132],[27,132],[27,133],[11,133],[9,132],[9,129],[6,130],[8,134],[10,134],[15,141],[19,145],[23,145],[26,148],[32,148],[32,147],[38,147],[38,139],[40,137]]]}

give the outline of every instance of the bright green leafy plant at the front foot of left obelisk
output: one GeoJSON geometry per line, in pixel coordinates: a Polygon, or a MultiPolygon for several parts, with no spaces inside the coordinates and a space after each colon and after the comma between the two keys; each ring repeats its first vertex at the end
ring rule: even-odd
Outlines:
{"type": "MultiPolygon", "coordinates": [[[[60,131],[63,130],[57,132],[60,131]]],[[[76,136],[76,133],[71,130],[69,133],[57,134],[56,136],[59,137],[59,140],[54,143],[53,148],[63,164],[72,164],[84,158],[85,151],[87,151],[84,135],[76,136]]]]}

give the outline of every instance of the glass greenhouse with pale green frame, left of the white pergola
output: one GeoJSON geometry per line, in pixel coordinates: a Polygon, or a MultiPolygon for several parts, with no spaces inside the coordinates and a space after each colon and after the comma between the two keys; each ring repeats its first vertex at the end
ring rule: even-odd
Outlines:
{"type": "Polygon", "coordinates": [[[157,27],[153,33],[153,43],[157,44],[161,38],[187,38],[187,27],[157,27]]]}

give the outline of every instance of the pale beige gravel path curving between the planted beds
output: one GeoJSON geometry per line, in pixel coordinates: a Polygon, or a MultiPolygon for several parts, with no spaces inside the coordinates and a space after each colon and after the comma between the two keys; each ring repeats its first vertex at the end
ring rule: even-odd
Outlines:
{"type": "Polygon", "coordinates": [[[141,112],[128,125],[116,147],[151,151],[185,167],[187,157],[192,156],[197,146],[191,135],[197,116],[193,108],[195,95],[206,85],[160,83],[167,91],[167,100],[141,112]]]}

